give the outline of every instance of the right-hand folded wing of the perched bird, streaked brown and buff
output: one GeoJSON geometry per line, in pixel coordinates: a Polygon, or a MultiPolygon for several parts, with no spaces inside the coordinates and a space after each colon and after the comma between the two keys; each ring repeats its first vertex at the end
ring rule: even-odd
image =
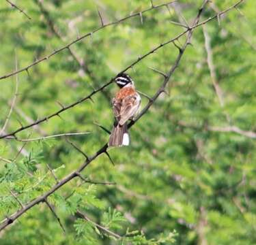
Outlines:
{"type": "Polygon", "coordinates": [[[124,98],[119,112],[119,125],[124,125],[127,120],[132,118],[137,110],[139,110],[140,104],[141,97],[137,93],[124,98]]]}

